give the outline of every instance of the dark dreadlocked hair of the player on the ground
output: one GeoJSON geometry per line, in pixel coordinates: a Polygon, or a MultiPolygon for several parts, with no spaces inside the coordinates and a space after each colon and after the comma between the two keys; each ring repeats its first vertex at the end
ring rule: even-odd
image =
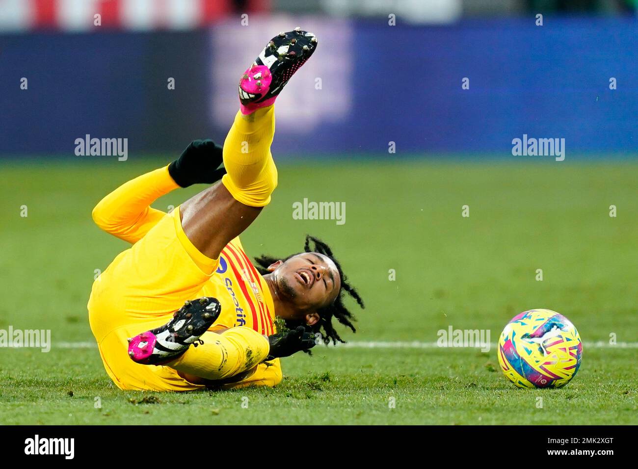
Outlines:
{"type": "MultiPolygon", "coordinates": [[[[306,244],[304,244],[304,251],[306,253],[311,253],[311,252],[320,253],[332,259],[332,262],[334,262],[334,265],[336,265],[337,270],[339,272],[339,277],[341,277],[341,290],[339,290],[339,294],[337,295],[334,302],[332,302],[332,304],[330,304],[329,306],[325,306],[325,308],[321,308],[317,310],[317,313],[320,316],[320,320],[318,320],[318,322],[316,322],[315,325],[313,326],[308,326],[306,324],[304,325],[306,325],[306,327],[310,327],[312,332],[315,332],[315,333],[319,332],[322,335],[323,342],[326,345],[330,343],[330,340],[332,340],[332,343],[337,343],[338,341],[345,343],[345,341],[342,340],[341,337],[339,337],[339,334],[337,333],[337,331],[334,330],[334,326],[332,325],[332,318],[334,317],[339,321],[339,323],[345,325],[346,327],[350,327],[352,332],[357,332],[357,330],[355,329],[354,325],[352,325],[352,321],[355,320],[355,317],[352,315],[352,313],[350,313],[350,311],[348,311],[348,309],[343,304],[342,292],[343,291],[348,292],[348,294],[353,299],[355,299],[355,301],[357,301],[357,304],[359,304],[361,308],[365,308],[363,304],[363,300],[357,293],[357,290],[355,290],[355,288],[353,288],[352,285],[350,285],[346,281],[346,276],[343,274],[343,271],[341,270],[341,265],[336,260],[334,255],[332,255],[332,249],[330,249],[330,246],[328,246],[327,244],[325,244],[325,242],[321,241],[320,239],[317,239],[314,236],[306,235],[306,244]],[[313,248],[310,247],[311,242],[313,242],[314,244],[313,248]],[[323,328],[323,331],[321,330],[322,328],[323,328]]],[[[297,253],[297,254],[302,254],[302,253],[297,253]]],[[[286,257],[284,261],[290,259],[293,256],[296,256],[297,254],[293,254],[286,257]]],[[[270,272],[267,270],[268,266],[271,264],[274,264],[274,262],[277,262],[278,260],[279,260],[278,257],[271,257],[266,255],[256,257],[255,262],[256,262],[257,270],[262,275],[269,274],[270,272]]],[[[288,327],[289,329],[293,329],[294,327],[297,327],[297,325],[299,324],[295,324],[294,321],[286,320],[286,327],[288,327]]]]}

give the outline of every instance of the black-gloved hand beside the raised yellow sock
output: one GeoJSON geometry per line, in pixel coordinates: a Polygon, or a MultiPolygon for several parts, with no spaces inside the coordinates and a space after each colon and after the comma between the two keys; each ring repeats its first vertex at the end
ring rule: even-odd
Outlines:
{"type": "Polygon", "coordinates": [[[193,140],[182,154],[168,165],[168,174],[179,186],[212,184],[226,174],[219,165],[223,162],[221,145],[210,138],[193,140]]]}

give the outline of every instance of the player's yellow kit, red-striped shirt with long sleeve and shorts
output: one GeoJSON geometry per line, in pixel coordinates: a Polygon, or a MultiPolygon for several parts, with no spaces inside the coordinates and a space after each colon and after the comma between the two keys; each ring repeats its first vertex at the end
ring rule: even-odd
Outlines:
{"type": "MultiPolygon", "coordinates": [[[[176,235],[186,236],[178,209],[167,215],[149,206],[175,187],[167,168],[160,168],[126,182],[93,212],[100,228],[133,244],[96,280],[88,305],[91,329],[107,373],[122,389],[185,391],[203,387],[189,383],[167,366],[137,364],[121,350],[126,337],[165,324],[188,299],[218,299],[221,314],[210,331],[240,326],[266,336],[276,332],[271,292],[239,237],[221,251],[216,271],[205,274],[195,265],[201,253],[188,251],[186,243],[175,241],[176,235]]],[[[273,386],[282,377],[279,359],[275,359],[258,364],[254,372],[237,376],[237,380],[227,380],[224,387],[273,386]]]]}

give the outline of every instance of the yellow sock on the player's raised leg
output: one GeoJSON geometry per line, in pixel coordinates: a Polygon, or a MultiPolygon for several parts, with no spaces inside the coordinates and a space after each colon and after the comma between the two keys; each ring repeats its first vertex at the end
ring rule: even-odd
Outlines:
{"type": "Polygon", "coordinates": [[[261,108],[249,115],[237,111],[224,142],[221,179],[231,195],[244,205],[263,207],[271,201],[277,187],[277,168],[271,144],[275,133],[274,107],[261,108]]]}

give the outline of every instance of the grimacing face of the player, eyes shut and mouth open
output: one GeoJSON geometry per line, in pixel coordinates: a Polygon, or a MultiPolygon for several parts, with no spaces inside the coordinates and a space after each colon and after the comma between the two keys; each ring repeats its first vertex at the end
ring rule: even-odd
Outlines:
{"type": "Polygon", "coordinates": [[[341,288],[337,266],[320,253],[294,255],[281,262],[273,274],[279,291],[301,312],[328,306],[341,288]]]}

